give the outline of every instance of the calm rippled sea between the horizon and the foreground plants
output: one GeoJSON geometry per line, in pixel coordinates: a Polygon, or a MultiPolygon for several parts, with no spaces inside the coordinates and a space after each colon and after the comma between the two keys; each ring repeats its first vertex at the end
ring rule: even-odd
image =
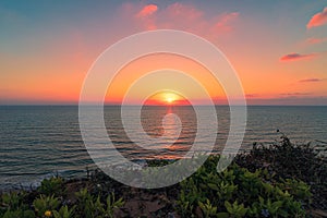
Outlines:
{"type": "MultiPolygon", "coordinates": [[[[251,148],[253,142],[274,142],[279,136],[277,129],[295,142],[327,142],[327,107],[251,106],[247,110],[242,149],[251,148]]],[[[135,108],[129,112],[133,114],[135,108]]],[[[218,106],[217,117],[216,150],[220,150],[228,135],[229,108],[218,106]]],[[[129,159],[181,158],[196,136],[192,107],[144,107],[141,118],[143,130],[157,138],[155,143],[145,141],[137,126],[129,133],[130,140],[122,128],[120,108],[105,107],[108,135],[129,159]]],[[[206,144],[206,137],[201,143],[206,144]]],[[[85,175],[86,166],[94,167],[81,137],[77,106],[0,106],[0,154],[1,189],[35,185],[56,172],[85,175]]]]}

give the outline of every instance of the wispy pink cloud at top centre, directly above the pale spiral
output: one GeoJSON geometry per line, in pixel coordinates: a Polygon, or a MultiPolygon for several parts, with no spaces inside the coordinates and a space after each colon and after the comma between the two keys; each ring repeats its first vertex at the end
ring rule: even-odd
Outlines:
{"type": "Polygon", "coordinates": [[[175,2],[166,8],[155,4],[134,7],[133,22],[143,29],[173,28],[191,32],[207,38],[217,38],[220,34],[233,31],[233,23],[238,21],[238,12],[225,12],[208,16],[204,11],[190,3],[175,2]],[[136,9],[136,10],[135,10],[136,9]]]}

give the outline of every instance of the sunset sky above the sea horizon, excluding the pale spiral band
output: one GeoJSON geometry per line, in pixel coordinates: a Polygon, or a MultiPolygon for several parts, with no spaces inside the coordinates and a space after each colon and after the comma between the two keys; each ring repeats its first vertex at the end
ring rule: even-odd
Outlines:
{"type": "MultiPolygon", "coordinates": [[[[185,31],[228,58],[249,105],[327,105],[327,1],[0,1],[0,105],[78,104],[84,78],[108,47],[130,35],[185,31]]],[[[131,48],[132,50],[133,48],[131,48]]],[[[128,52],[128,51],[124,51],[128,52]]],[[[108,85],[106,102],[205,104],[191,74],[215,102],[221,84],[194,60],[143,57],[108,85]],[[158,76],[136,80],[160,70],[158,76]],[[170,69],[170,70],[162,70],[170,69]],[[137,88],[138,87],[138,88],[137,88]],[[173,93],[183,88],[185,96],[173,93]],[[132,92],[133,90],[133,92],[132,92]],[[172,90],[172,92],[170,92],[172,90]]],[[[223,84],[228,85],[228,84],[223,84]]]]}

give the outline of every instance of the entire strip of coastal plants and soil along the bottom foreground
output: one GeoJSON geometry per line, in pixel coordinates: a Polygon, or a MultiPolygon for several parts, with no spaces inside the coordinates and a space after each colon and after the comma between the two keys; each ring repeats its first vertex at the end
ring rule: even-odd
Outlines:
{"type": "Polygon", "coordinates": [[[210,156],[192,177],[158,190],[125,186],[99,170],[87,179],[53,177],[34,191],[2,193],[0,217],[312,217],[327,209],[326,159],[310,144],[282,134],[220,173],[218,160],[210,156]]]}

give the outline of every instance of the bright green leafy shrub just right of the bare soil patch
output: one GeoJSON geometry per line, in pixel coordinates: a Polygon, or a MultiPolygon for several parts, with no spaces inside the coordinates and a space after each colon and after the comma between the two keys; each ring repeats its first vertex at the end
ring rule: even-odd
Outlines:
{"type": "Polygon", "coordinates": [[[210,156],[191,178],[181,182],[178,209],[191,217],[201,208],[204,217],[305,216],[302,206],[311,197],[310,187],[296,180],[274,184],[267,170],[250,172],[233,164],[218,173],[218,156],[210,156]]]}

